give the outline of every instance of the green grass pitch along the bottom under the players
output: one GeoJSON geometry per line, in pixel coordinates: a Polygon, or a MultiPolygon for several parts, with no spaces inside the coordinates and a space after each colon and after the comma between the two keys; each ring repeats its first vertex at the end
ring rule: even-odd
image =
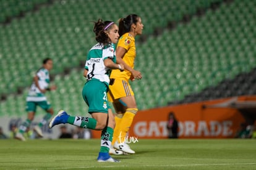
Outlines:
{"type": "Polygon", "coordinates": [[[100,140],[0,140],[0,169],[256,169],[253,139],[139,139],[134,155],[98,163],[100,140]]]}

